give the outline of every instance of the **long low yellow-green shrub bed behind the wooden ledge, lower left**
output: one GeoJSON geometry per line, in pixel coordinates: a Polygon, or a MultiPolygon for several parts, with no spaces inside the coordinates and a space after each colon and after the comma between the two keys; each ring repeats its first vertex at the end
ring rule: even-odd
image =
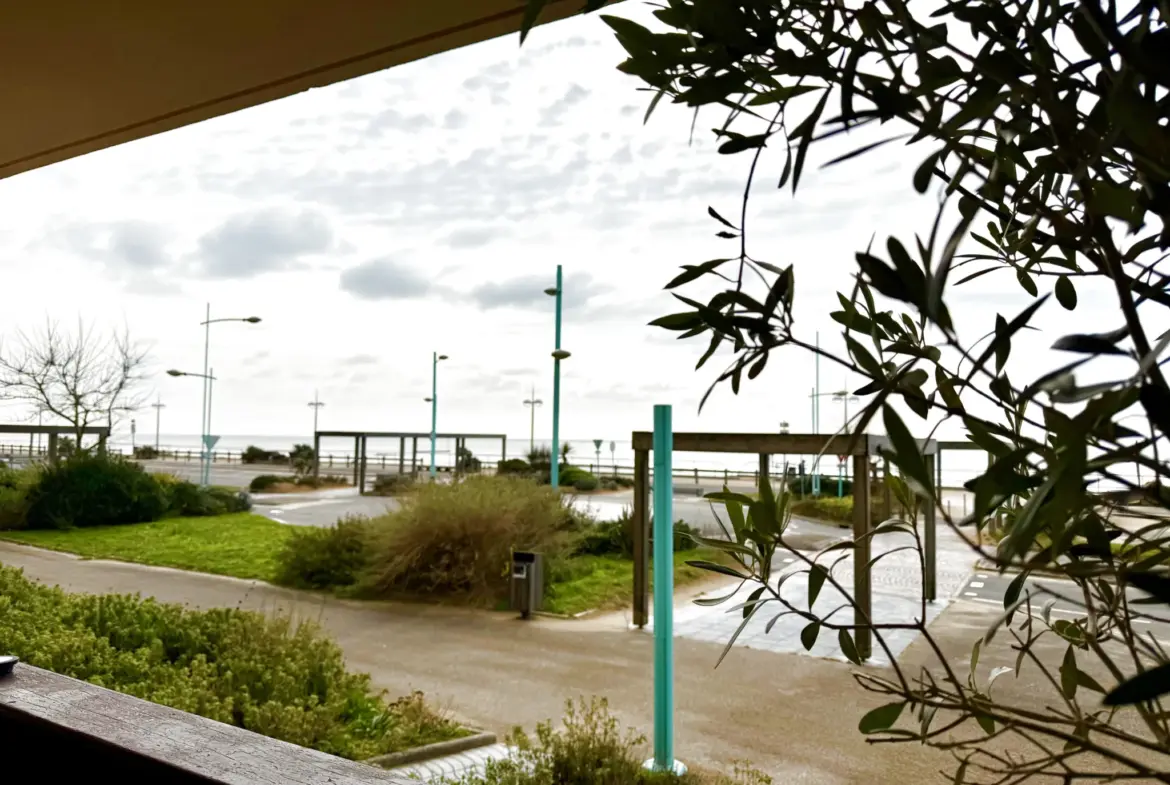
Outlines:
{"type": "Polygon", "coordinates": [[[0,641],[29,665],[330,755],[461,735],[420,694],[386,704],[308,624],[67,594],[0,566],[0,641]]]}

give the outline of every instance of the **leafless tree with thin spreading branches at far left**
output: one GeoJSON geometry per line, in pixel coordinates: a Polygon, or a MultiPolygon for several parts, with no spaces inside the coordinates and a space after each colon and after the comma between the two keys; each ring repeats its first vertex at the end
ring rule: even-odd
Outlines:
{"type": "Polygon", "coordinates": [[[85,428],[112,428],[119,415],[143,405],[137,388],[146,359],[129,329],[102,335],[78,319],[70,332],[47,322],[0,346],[0,400],[26,402],[69,424],[80,448],[85,428]]]}

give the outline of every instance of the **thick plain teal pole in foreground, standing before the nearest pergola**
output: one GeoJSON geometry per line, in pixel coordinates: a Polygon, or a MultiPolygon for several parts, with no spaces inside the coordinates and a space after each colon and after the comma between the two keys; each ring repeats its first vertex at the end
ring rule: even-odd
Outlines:
{"type": "Polygon", "coordinates": [[[683,774],[674,759],[674,425],[669,405],[654,407],[654,759],[653,771],[683,774]]]}

